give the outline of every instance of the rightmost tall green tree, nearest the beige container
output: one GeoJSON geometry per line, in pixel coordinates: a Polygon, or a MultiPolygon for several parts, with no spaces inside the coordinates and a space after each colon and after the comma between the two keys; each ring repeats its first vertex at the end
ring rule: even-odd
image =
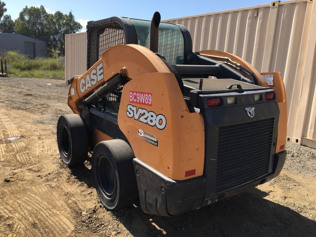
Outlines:
{"type": "Polygon", "coordinates": [[[53,35],[54,46],[60,54],[65,55],[65,34],[78,32],[82,29],[81,24],[75,21],[71,11],[68,15],[60,11],[55,12],[54,15],[49,14],[47,22],[51,27],[50,32],[53,35]]]}

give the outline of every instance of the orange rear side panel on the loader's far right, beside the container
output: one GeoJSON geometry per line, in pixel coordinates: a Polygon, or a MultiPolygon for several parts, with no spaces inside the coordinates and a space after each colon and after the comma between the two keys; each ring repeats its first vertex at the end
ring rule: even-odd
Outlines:
{"type": "Polygon", "coordinates": [[[279,105],[280,117],[276,139],[276,153],[285,150],[286,132],[288,125],[288,106],[286,101],[286,93],[280,72],[264,72],[261,75],[272,75],[273,85],[270,88],[276,91],[276,100],[279,105]],[[283,148],[281,147],[283,146],[283,148]],[[281,149],[281,148],[282,149],[281,149]]]}

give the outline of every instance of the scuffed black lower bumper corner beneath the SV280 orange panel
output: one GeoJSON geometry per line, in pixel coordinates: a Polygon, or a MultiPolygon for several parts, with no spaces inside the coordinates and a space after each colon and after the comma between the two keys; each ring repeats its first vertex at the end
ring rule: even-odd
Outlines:
{"type": "Polygon", "coordinates": [[[206,187],[204,176],[177,181],[137,158],[133,162],[140,204],[145,213],[173,216],[201,207],[206,187]]]}

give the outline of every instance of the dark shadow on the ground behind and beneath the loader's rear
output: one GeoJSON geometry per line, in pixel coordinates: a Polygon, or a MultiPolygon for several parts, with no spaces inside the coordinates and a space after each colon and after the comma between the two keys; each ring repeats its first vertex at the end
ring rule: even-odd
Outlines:
{"type": "Polygon", "coordinates": [[[263,197],[253,188],[179,216],[145,214],[140,207],[114,212],[134,236],[316,236],[316,222],[263,197]]]}

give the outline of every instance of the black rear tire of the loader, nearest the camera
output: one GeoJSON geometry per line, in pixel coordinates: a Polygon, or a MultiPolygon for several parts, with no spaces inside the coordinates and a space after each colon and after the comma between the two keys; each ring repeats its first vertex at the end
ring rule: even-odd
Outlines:
{"type": "Polygon", "coordinates": [[[120,210],[138,200],[131,147],[123,140],[98,143],[92,156],[92,175],[101,203],[107,210],[120,210]]]}

